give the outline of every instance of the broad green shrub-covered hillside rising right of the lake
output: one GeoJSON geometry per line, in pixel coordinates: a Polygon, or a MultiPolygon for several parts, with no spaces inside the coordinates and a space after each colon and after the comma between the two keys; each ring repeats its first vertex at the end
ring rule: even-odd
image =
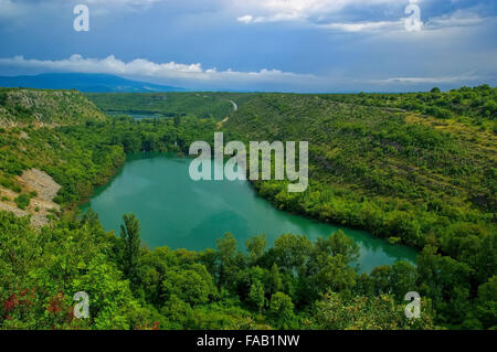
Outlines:
{"type": "MultiPolygon", "coordinates": [[[[469,96],[490,106],[495,92],[478,87],[469,96]]],[[[459,93],[419,94],[423,113],[453,94],[459,93]]],[[[476,260],[496,233],[495,117],[476,118],[472,110],[440,118],[374,106],[402,97],[261,94],[222,128],[226,140],[309,141],[306,192],[287,193],[281,182],[255,184],[276,206],[476,260]]]]}

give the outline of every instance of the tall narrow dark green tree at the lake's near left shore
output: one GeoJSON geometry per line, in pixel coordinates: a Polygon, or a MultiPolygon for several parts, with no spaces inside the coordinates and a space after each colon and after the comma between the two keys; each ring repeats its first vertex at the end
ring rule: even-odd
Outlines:
{"type": "Polygon", "coordinates": [[[123,269],[126,277],[133,282],[138,281],[138,257],[140,249],[140,223],[135,214],[123,215],[124,225],[120,225],[120,237],[125,246],[123,250],[123,269]]]}

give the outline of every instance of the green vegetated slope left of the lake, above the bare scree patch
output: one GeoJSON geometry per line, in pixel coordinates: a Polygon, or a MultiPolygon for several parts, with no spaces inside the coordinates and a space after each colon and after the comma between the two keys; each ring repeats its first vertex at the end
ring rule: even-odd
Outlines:
{"type": "Polygon", "coordinates": [[[25,98],[31,107],[23,110],[19,105],[8,105],[10,124],[0,129],[0,185],[22,193],[19,177],[25,170],[39,169],[62,185],[55,202],[68,207],[91,194],[95,185],[105,183],[123,164],[126,153],[181,151],[197,139],[213,138],[211,119],[110,118],[72,90],[3,92],[9,102],[25,98]],[[54,115],[50,113],[52,107],[54,115]],[[66,110],[73,110],[72,115],[66,110]]]}

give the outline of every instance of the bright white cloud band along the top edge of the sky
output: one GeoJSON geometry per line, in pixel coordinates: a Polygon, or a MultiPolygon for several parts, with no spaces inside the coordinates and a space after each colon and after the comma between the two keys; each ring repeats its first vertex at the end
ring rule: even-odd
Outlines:
{"type": "MultiPolygon", "coordinates": [[[[88,3],[92,15],[109,15],[115,11],[141,11],[158,3],[169,3],[171,9],[182,9],[184,13],[197,10],[220,12],[235,18],[244,24],[263,22],[300,22],[310,26],[318,26],[343,32],[380,32],[398,30],[400,21],[404,17],[403,9],[409,4],[405,0],[189,0],[188,6],[180,0],[81,0],[88,3]],[[207,10],[209,9],[209,10],[207,10]],[[374,18],[360,20],[361,12],[364,15],[374,13],[374,18]],[[395,14],[398,13],[398,18],[395,14]],[[353,17],[353,21],[348,21],[353,17]]],[[[61,6],[71,7],[78,1],[47,0],[43,2],[30,0],[0,0],[0,19],[17,18],[27,13],[40,13],[40,11],[60,10],[61,6]]],[[[436,18],[425,18],[423,1],[417,1],[421,7],[424,29],[437,30],[443,28],[478,25],[485,18],[470,10],[458,10],[436,18]]],[[[473,8],[477,11],[477,8],[473,8]]],[[[178,13],[182,13],[181,11],[178,13]]]]}

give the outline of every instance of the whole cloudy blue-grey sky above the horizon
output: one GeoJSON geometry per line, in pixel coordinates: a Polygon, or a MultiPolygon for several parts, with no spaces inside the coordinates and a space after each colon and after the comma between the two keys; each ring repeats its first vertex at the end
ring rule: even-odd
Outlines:
{"type": "Polygon", "coordinates": [[[495,86],[496,34],[495,0],[0,0],[0,75],[198,90],[495,86]],[[74,29],[78,4],[88,31],[74,29]]]}

